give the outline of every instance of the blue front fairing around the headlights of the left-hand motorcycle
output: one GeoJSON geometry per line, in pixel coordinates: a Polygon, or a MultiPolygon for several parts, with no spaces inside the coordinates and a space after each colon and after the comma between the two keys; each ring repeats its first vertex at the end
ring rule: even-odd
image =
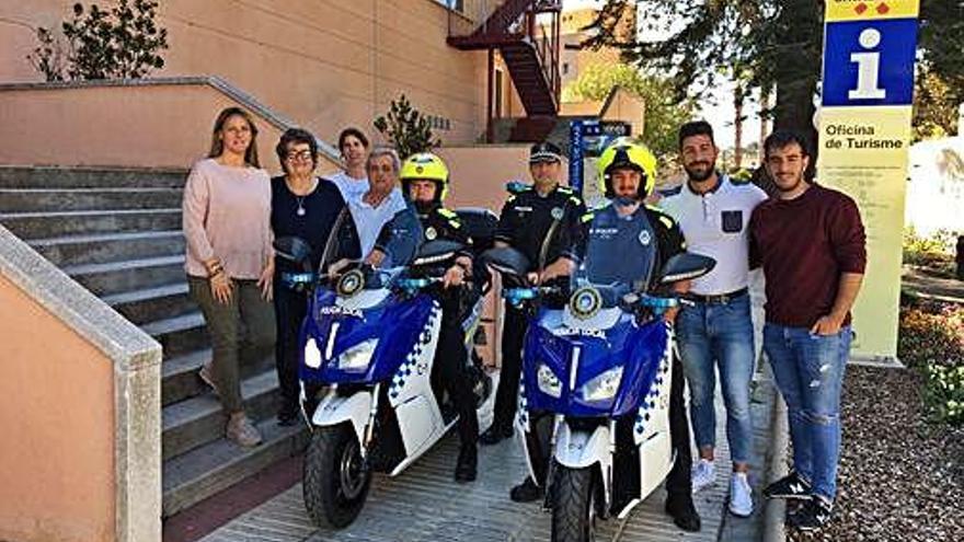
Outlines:
{"type": "Polygon", "coordinates": [[[423,343],[420,335],[434,309],[427,295],[402,298],[392,293],[378,305],[360,311],[343,310],[335,304],[336,298],[333,291],[320,288],[309,301],[309,318],[301,325],[298,343],[298,376],[306,382],[374,384],[390,379],[405,362],[413,345],[423,343]],[[326,357],[333,330],[336,335],[331,356],[326,357]],[[314,338],[321,350],[321,366],[317,369],[305,364],[309,338],[314,338]],[[338,357],[345,350],[372,338],[378,339],[378,345],[366,368],[338,368],[338,357]]]}

